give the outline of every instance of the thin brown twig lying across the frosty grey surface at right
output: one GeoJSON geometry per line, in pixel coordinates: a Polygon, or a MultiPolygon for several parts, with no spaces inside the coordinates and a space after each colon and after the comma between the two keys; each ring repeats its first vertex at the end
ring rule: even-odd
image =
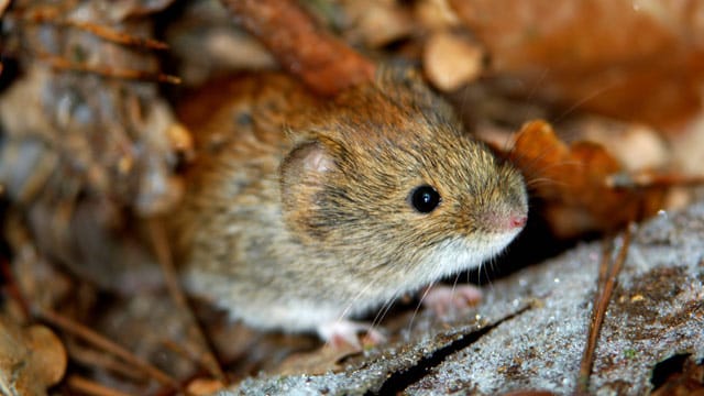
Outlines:
{"type": "Polygon", "coordinates": [[[588,395],[590,376],[592,374],[592,366],[594,365],[594,350],[596,349],[596,341],[598,339],[602,324],[604,323],[604,317],[606,316],[606,309],[608,308],[608,304],[612,299],[614,287],[616,287],[618,274],[620,273],[620,268],[628,256],[628,248],[630,246],[630,239],[635,227],[635,223],[629,223],[626,227],[623,243],[615,261],[610,260],[612,250],[604,249],[602,262],[600,264],[597,290],[594,297],[594,307],[592,309],[592,320],[590,322],[587,341],[584,346],[582,362],[580,364],[580,375],[575,395],[588,395]]]}

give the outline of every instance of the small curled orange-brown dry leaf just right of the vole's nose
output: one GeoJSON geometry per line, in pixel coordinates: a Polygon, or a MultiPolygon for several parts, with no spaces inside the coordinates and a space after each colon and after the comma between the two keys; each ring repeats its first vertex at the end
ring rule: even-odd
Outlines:
{"type": "Polygon", "coordinates": [[[602,145],[576,142],[568,146],[544,121],[524,125],[510,160],[543,198],[546,216],[558,237],[608,231],[653,215],[661,190],[617,190],[606,185],[622,165],[602,145]]]}

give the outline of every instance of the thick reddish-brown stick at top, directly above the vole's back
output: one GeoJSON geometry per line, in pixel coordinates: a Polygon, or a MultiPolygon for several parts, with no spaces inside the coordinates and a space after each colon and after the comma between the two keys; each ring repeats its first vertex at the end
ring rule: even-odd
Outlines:
{"type": "Polygon", "coordinates": [[[293,0],[221,0],[289,73],[320,95],[371,80],[374,64],[320,29],[293,0]]]}

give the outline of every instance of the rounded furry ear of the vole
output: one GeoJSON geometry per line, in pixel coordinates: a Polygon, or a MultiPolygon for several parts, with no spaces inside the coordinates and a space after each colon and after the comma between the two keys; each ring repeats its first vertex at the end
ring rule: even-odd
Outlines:
{"type": "Polygon", "coordinates": [[[280,193],[284,218],[289,227],[308,234],[317,197],[326,177],[337,167],[329,150],[320,142],[296,146],[280,166],[280,193]]]}

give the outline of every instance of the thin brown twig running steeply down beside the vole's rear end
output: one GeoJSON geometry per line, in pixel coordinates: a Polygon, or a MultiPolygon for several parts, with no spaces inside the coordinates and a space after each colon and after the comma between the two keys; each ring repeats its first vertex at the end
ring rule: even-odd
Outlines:
{"type": "Polygon", "coordinates": [[[168,241],[166,240],[166,234],[164,232],[162,223],[156,219],[151,219],[148,222],[148,227],[150,234],[154,243],[154,250],[156,252],[156,257],[160,265],[162,266],[168,293],[170,294],[174,302],[179,307],[182,314],[188,320],[190,324],[188,326],[190,336],[195,340],[197,340],[204,349],[204,354],[198,361],[210,373],[210,375],[220,381],[222,384],[227,385],[228,378],[222,372],[222,369],[220,367],[215,353],[210,350],[210,343],[207,341],[202,329],[198,324],[196,316],[193,314],[193,310],[190,309],[190,306],[186,300],[184,292],[180,289],[178,278],[176,276],[176,271],[174,268],[174,260],[172,257],[170,248],[168,245],[168,241]]]}

